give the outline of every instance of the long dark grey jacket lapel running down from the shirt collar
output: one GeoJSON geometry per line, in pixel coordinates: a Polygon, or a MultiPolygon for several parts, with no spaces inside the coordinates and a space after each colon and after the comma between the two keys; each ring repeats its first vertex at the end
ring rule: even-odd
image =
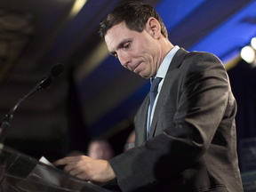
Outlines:
{"type": "MultiPolygon", "coordinates": [[[[159,93],[159,97],[158,97],[158,100],[156,103],[156,108],[155,108],[154,116],[152,119],[152,124],[151,124],[148,139],[152,138],[156,132],[156,124],[157,124],[158,114],[161,111],[166,98],[169,96],[168,92],[170,91],[169,90],[170,84],[173,84],[172,76],[175,76],[177,74],[177,72],[178,72],[177,70],[179,70],[181,63],[185,59],[187,54],[188,54],[187,51],[185,51],[183,48],[180,48],[180,50],[178,52],[176,52],[176,54],[172,58],[172,62],[170,64],[168,71],[166,73],[166,76],[164,78],[164,84],[162,86],[161,92],[159,93]]],[[[146,122],[147,122],[147,120],[146,120],[146,122]]]]}

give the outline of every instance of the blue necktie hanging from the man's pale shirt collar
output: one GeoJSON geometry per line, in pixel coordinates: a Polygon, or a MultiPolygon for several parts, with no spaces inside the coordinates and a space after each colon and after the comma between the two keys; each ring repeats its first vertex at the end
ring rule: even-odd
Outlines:
{"type": "Polygon", "coordinates": [[[150,108],[149,108],[149,118],[148,118],[148,130],[147,130],[147,138],[149,136],[149,132],[150,132],[150,126],[151,126],[151,113],[152,113],[152,108],[154,106],[154,102],[156,100],[156,95],[157,95],[157,90],[158,90],[158,85],[161,82],[162,78],[161,77],[156,77],[155,79],[153,79],[151,87],[150,87],[150,92],[149,92],[149,96],[150,96],[150,108]]]}

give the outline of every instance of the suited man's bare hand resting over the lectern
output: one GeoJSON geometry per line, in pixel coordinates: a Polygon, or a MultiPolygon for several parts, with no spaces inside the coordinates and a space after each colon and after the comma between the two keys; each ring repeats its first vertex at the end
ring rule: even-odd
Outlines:
{"type": "Polygon", "coordinates": [[[68,156],[52,164],[54,166],[66,164],[64,172],[68,172],[81,180],[104,183],[116,178],[116,174],[108,161],[89,156],[68,156]]]}

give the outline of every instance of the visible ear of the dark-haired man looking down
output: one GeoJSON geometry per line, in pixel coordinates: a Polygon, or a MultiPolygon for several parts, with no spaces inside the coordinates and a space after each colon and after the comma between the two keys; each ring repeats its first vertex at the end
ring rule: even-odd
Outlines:
{"type": "Polygon", "coordinates": [[[154,17],[150,17],[148,19],[148,22],[146,23],[146,31],[150,36],[152,36],[155,39],[160,38],[161,36],[161,26],[158,20],[154,17]]]}

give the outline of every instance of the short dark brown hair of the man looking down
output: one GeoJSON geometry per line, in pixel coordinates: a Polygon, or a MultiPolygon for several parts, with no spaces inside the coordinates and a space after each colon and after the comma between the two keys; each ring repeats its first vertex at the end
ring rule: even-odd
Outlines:
{"type": "Polygon", "coordinates": [[[139,1],[132,1],[116,6],[116,8],[108,14],[107,18],[100,23],[100,36],[104,38],[108,29],[122,21],[125,22],[127,28],[130,30],[142,32],[146,28],[146,23],[150,17],[154,17],[158,20],[161,26],[161,33],[167,38],[168,33],[164,22],[156,12],[156,9],[149,4],[142,4],[139,1]]]}

